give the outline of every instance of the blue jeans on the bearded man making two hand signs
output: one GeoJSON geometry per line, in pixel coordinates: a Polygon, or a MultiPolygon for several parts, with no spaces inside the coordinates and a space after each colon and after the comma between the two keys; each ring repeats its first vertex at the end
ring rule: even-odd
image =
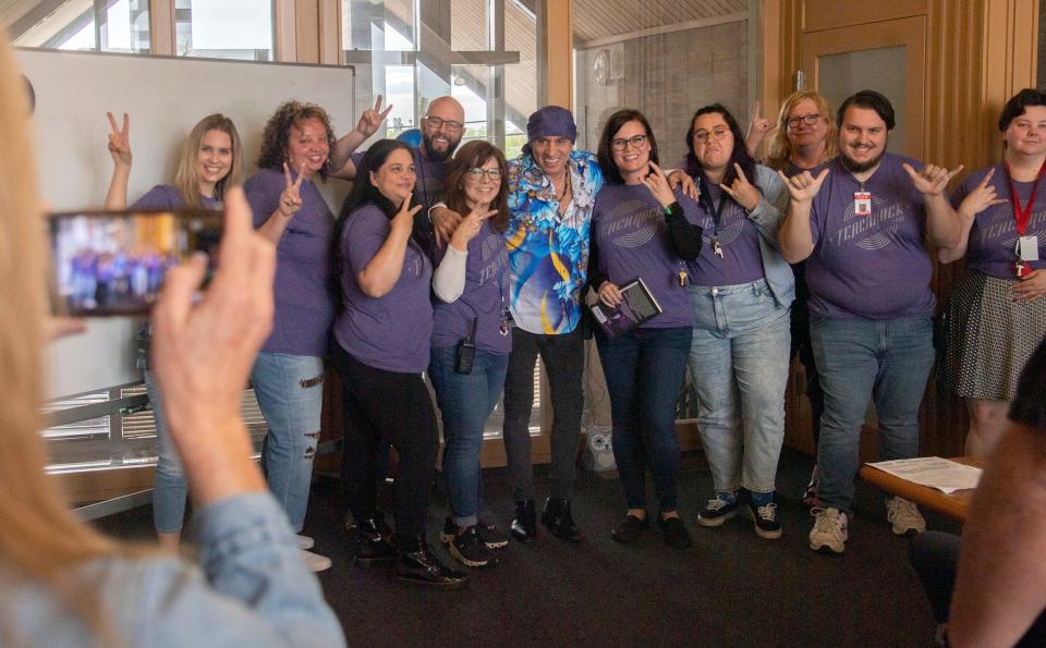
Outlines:
{"type": "Polygon", "coordinates": [[[879,461],[919,453],[919,406],[934,366],[933,326],[929,316],[811,316],[810,338],[825,392],[817,497],[823,505],[849,513],[869,396],[878,418],[879,461]]]}

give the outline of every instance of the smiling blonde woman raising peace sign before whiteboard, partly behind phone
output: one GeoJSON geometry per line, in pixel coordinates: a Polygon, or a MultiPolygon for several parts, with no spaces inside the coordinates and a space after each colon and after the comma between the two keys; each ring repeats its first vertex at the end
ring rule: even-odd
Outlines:
{"type": "MultiPolygon", "coordinates": [[[[127,180],[131,176],[131,118],[123,114],[123,126],[109,113],[109,155],[112,156],[112,179],[106,195],[106,209],[124,209],[127,205],[127,180]]],[[[240,134],[232,120],[210,114],[199,120],[182,144],[174,172],[174,184],[153,187],[131,209],[217,209],[226,187],[242,182],[240,134]]],[[[143,250],[145,267],[156,266],[166,250],[143,250]]],[[[154,284],[156,282],[154,281],[154,284]]],[[[154,290],[157,285],[151,286],[154,290]]],[[[156,420],[157,460],[153,482],[153,524],[161,547],[178,549],[185,518],[187,486],[178,451],[171,443],[163,402],[148,364],[150,331],[148,325],[139,334],[139,366],[145,370],[145,387],[156,420]]]]}

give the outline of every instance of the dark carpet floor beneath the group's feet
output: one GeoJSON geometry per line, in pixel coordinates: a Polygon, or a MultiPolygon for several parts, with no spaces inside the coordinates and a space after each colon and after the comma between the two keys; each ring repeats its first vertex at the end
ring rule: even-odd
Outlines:
{"type": "MultiPolygon", "coordinates": [[[[574,517],[586,541],[571,546],[544,534],[533,545],[510,542],[499,551],[499,566],[472,570],[469,587],[459,591],[401,584],[388,565],[353,565],[332,479],[315,482],[304,533],[316,539],[315,551],[333,560],[319,577],[351,646],[929,645],[929,606],[909,566],[908,540],[890,534],[880,493],[859,484],[843,555],[807,548],[812,518],[799,496],[811,465],[803,454],[782,455],[784,537],[764,540],[741,516],[718,528],[695,527],[711,478],[700,457],[686,457],[680,512],[694,546],[682,553],[655,530],[635,545],[611,540],[624,512],[618,480],[580,470],[574,517]]],[[[546,477],[537,467],[538,492],[546,477]]],[[[486,470],[485,487],[499,525],[507,525],[512,506],[504,472],[486,470]]],[[[146,506],[99,525],[148,537],[150,514],[146,506]]],[[[429,512],[434,542],[445,514],[439,493],[429,512]]],[[[956,530],[934,516],[927,522],[956,530]]],[[[441,548],[440,554],[451,560],[441,548]]]]}

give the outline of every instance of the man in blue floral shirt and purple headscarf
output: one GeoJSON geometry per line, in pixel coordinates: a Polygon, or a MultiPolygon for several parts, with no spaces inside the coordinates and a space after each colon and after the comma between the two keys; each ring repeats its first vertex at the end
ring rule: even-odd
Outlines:
{"type": "Polygon", "coordinates": [[[523,155],[509,162],[510,309],[516,327],[504,382],[504,450],[515,499],[512,535],[537,534],[531,468],[534,363],[540,354],[551,387],[552,472],[542,522],[556,536],[580,541],[570,498],[584,406],[583,291],[588,223],[603,172],[596,156],[573,150],[570,111],[546,106],[526,124],[523,155]]]}

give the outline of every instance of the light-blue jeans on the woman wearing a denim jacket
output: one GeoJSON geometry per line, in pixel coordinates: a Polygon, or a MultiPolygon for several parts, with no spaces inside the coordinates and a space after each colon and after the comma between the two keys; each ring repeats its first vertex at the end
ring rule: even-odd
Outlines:
{"type": "Polygon", "coordinates": [[[697,429],[717,492],[774,492],[784,441],[789,309],[766,281],[688,289],[697,429]]]}

